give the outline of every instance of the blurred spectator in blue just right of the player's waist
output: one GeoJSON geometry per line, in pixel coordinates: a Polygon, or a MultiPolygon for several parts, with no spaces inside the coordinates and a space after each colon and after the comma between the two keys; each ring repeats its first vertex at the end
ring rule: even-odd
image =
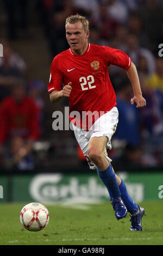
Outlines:
{"type": "Polygon", "coordinates": [[[140,144],[139,112],[135,105],[131,105],[130,99],[132,87],[128,79],[122,80],[117,90],[117,108],[119,112],[119,121],[115,132],[117,139],[140,144]]]}

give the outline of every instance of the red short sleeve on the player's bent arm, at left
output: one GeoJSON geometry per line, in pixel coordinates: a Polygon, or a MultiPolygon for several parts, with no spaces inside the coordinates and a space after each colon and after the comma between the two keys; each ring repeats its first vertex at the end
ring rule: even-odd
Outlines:
{"type": "Polygon", "coordinates": [[[63,84],[63,77],[61,73],[61,67],[58,56],[53,59],[51,65],[51,74],[48,83],[48,92],[51,93],[53,90],[61,90],[63,84]]]}

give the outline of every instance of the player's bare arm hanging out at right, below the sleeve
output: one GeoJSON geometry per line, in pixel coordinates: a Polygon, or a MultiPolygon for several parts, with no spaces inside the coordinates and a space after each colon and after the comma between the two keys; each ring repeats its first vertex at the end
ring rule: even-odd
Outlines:
{"type": "Polygon", "coordinates": [[[146,100],[142,96],[140,82],[139,82],[139,76],[137,74],[136,66],[133,62],[131,62],[130,68],[127,70],[128,78],[131,82],[131,85],[133,87],[134,97],[131,99],[131,104],[133,105],[134,102],[136,102],[136,107],[145,107],[146,106],[146,100]]]}

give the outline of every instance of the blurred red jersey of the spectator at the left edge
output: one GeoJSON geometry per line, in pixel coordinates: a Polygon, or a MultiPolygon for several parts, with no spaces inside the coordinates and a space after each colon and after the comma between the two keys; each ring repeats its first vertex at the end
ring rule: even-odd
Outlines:
{"type": "Polygon", "coordinates": [[[39,139],[40,126],[33,99],[24,97],[17,103],[12,96],[6,97],[0,109],[0,144],[8,138],[39,139]]]}

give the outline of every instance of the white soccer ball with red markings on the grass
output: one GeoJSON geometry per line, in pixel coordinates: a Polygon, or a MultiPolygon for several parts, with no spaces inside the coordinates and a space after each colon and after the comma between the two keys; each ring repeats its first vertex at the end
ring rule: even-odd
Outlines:
{"type": "Polygon", "coordinates": [[[30,231],[40,231],[45,228],[49,221],[47,208],[40,203],[25,205],[20,213],[20,222],[24,228],[30,231]]]}

